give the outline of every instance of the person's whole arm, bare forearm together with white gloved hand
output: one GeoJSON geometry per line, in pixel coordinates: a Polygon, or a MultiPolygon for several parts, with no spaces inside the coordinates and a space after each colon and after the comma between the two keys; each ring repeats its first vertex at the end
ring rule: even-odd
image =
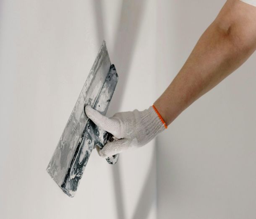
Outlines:
{"type": "Polygon", "coordinates": [[[107,118],[86,107],[86,114],[100,128],[120,140],[107,143],[101,156],[143,146],[165,129],[196,99],[238,68],[256,49],[256,7],[227,0],[206,29],[188,60],[166,91],[147,110],[120,112],[107,118]]]}

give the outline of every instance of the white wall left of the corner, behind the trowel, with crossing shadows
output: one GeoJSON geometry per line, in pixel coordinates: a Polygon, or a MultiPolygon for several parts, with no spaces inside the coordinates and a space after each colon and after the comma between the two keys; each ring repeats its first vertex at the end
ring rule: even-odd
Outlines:
{"type": "Polygon", "coordinates": [[[115,166],[94,151],[74,198],[45,170],[103,39],[108,114],[152,104],[155,18],[153,0],[0,1],[0,218],[156,218],[154,142],[115,166]]]}

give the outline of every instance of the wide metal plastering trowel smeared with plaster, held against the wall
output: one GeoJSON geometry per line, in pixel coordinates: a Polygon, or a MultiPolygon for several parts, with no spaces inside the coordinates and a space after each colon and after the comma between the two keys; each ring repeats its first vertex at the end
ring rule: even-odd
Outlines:
{"type": "MultiPolygon", "coordinates": [[[[47,172],[70,197],[76,193],[92,149],[113,141],[114,137],[100,130],[85,114],[84,107],[90,105],[105,115],[118,82],[115,66],[111,65],[105,41],[103,41],[84,87],[71,112],[68,123],[52,155],[47,172]]],[[[115,164],[118,154],[108,157],[115,164]]]]}

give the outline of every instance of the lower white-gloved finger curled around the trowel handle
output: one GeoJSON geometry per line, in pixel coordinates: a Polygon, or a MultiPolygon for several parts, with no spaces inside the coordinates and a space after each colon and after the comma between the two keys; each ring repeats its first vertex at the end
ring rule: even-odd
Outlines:
{"type": "Polygon", "coordinates": [[[131,139],[120,139],[118,141],[109,142],[105,144],[100,151],[98,151],[99,156],[107,158],[108,156],[119,154],[120,152],[132,147],[131,141],[131,139]]]}

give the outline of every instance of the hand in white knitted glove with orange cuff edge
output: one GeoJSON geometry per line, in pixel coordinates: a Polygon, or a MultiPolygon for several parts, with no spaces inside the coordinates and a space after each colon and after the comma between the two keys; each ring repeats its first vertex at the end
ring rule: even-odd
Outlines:
{"type": "Polygon", "coordinates": [[[105,117],[89,105],[86,115],[102,130],[118,138],[107,143],[99,155],[106,158],[126,149],[143,146],[162,132],[167,126],[154,106],[144,111],[118,112],[113,117],[105,117]]]}

